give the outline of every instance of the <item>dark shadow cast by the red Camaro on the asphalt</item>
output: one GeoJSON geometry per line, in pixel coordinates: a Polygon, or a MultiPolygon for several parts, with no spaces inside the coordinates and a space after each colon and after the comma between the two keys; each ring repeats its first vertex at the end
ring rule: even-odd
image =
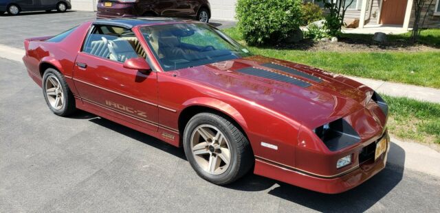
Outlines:
{"type": "MultiPolygon", "coordinates": [[[[152,136],[119,125],[105,118],[100,118],[83,111],[77,112],[72,118],[89,118],[89,121],[92,123],[96,123],[97,125],[116,131],[119,134],[143,142],[146,145],[170,153],[177,158],[186,160],[182,148],[173,147],[152,136]]],[[[390,149],[399,156],[401,162],[405,161],[404,149],[401,149],[401,147],[393,143],[390,149]]],[[[269,195],[303,205],[319,212],[364,212],[391,192],[403,178],[403,173],[403,167],[387,164],[383,171],[364,182],[364,184],[338,195],[327,195],[306,190],[252,173],[248,173],[248,175],[245,175],[238,181],[223,187],[249,192],[272,188],[272,190],[268,192],[269,195]]]]}

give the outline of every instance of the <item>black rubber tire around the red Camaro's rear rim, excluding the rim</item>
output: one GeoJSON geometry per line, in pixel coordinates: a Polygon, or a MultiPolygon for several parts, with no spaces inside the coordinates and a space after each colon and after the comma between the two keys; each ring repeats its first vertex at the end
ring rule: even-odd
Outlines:
{"type": "Polygon", "coordinates": [[[59,73],[56,69],[54,68],[46,69],[43,75],[43,85],[41,87],[43,88],[43,96],[47,103],[47,106],[50,108],[50,110],[52,110],[52,112],[54,112],[54,114],[58,116],[68,116],[69,114],[72,114],[73,112],[76,111],[75,97],[72,94],[72,91],[70,90],[69,86],[67,85],[63,75],[59,73]],[[58,79],[58,82],[60,82],[61,84],[64,103],[60,109],[54,108],[51,105],[49,98],[47,97],[46,84],[49,77],[55,77],[56,79],[58,79]]]}

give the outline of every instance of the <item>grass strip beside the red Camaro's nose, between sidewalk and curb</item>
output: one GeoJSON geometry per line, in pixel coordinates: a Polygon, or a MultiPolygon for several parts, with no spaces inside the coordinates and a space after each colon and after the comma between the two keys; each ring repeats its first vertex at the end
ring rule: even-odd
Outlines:
{"type": "Polygon", "coordinates": [[[382,95],[390,108],[388,128],[399,138],[440,144],[440,104],[382,95]]]}

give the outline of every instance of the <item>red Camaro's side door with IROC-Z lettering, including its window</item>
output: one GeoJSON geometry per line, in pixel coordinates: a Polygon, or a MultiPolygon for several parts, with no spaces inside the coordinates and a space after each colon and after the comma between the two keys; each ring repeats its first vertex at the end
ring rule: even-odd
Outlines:
{"type": "Polygon", "coordinates": [[[145,55],[142,47],[133,47],[140,45],[136,40],[130,29],[92,26],[76,58],[73,79],[85,105],[157,131],[156,73],[123,66],[125,60],[145,55]]]}

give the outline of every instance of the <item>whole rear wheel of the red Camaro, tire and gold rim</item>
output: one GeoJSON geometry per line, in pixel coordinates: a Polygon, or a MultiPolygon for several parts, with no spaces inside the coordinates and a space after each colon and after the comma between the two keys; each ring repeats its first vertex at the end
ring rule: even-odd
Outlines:
{"type": "Polygon", "coordinates": [[[75,98],[65,78],[54,68],[47,68],[43,75],[43,95],[54,114],[67,116],[76,110],[75,98]]]}

